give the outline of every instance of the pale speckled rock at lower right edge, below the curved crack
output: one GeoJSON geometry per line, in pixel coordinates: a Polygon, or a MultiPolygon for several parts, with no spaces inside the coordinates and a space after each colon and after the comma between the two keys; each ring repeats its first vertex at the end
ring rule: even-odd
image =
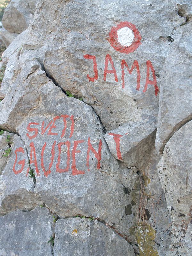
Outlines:
{"type": "MultiPolygon", "coordinates": [[[[192,217],[192,121],[166,143],[159,173],[172,220],[172,250],[190,255],[192,217]]],[[[179,255],[180,255],[179,254],[179,255]]]]}

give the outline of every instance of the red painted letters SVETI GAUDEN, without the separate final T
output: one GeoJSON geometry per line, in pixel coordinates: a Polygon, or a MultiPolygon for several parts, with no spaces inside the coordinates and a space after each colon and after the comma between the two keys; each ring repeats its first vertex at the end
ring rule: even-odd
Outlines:
{"type": "MultiPolygon", "coordinates": [[[[53,120],[51,122],[49,122],[45,128],[44,128],[45,122],[43,121],[42,124],[41,124],[41,131],[39,131],[40,129],[37,128],[39,123],[31,122],[27,126],[28,133],[26,135],[27,135],[27,137],[30,140],[36,138],[36,136],[38,134],[41,134],[41,135],[46,134],[48,136],[57,136],[59,134],[60,138],[63,138],[65,133],[66,133],[66,129],[67,129],[67,123],[68,123],[67,118],[70,119],[70,125],[71,126],[70,126],[69,138],[71,138],[73,136],[73,133],[74,133],[74,116],[70,116],[69,117],[68,115],[55,116],[53,118],[53,120]],[[60,118],[63,120],[63,129],[62,129],[62,131],[60,131],[60,134],[59,134],[59,131],[56,132],[53,129],[57,129],[55,122],[58,119],[60,119],[60,118]],[[36,128],[34,128],[34,127],[36,127],[36,128]]],[[[60,172],[60,173],[68,172],[69,171],[69,167],[70,167],[69,164],[70,164],[70,158],[71,157],[72,157],[72,164],[71,164],[72,173],[71,174],[72,175],[84,174],[85,171],[80,171],[80,170],[77,170],[77,168],[76,168],[76,154],[81,153],[81,150],[78,150],[77,147],[78,147],[78,145],[80,143],[84,143],[84,142],[85,142],[84,140],[74,140],[73,141],[71,156],[70,156],[71,143],[69,142],[69,140],[57,143],[58,156],[55,158],[56,140],[54,140],[54,142],[52,144],[51,160],[50,160],[50,164],[49,164],[48,170],[45,170],[45,167],[44,167],[44,151],[45,151],[46,144],[47,144],[45,142],[43,147],[42,147],[42,150],[41,150],[41,168],[42,168],[42,170],[44,172],[44,175],[47,177],[51,173],[51,168],[52,168],[54,159],[56,159],[56,161],[57,161],[56,172],[60,172]],[[67,166],[65,168],[61,168],[60,167],[61,146],[64,146],[64,145],[67,147],[67,161],[66,161],[66,165],[67,166]]],[[[94,156],[97,159],[97,169],[100,169],[102,141],[101,140],[99,141],[98,151],[96,151],[93,148],[90,137],[88,137],[88,140],[87,140],[86,143],[87,143],[87,159],[86,159],[87,162],[86,162],[86,166],[88,168],[87,171],[90,171],[90,169],[89,169],[90,151],[94,154],[94,156]]],[[[36,170],[36,174],[37,174],[37,176],[39,176],[40,172],[39,172],[39,168],[38,168],[38,165],[37,165],[36,148],[35,148],[34,142],[31,142],[29,146],[31,148],[30,149],[30,156],[29,156],[29,158],[30,158],[29,159],[30,160],[29,163],[30,163],[30,165],[34,164],[35,170],[36,170]]],[[[23,171],[24,167],[25,167],[26,162],[28,163],[28,161],[26,161],[25,159],[22,159],[22,160],[20,160],[18,162],[18,155],[20,155],[20,157],[22,157],[22,154],[24,154],[24,148],[20,147],[20,148],[17,148],[15,150],[15,162],[13,164],[13,172],[15,174],[21,173],[23,171]],[[15,169],[16,164],[21,166],[19,170],[15,169]]],[[[30,168],[28,167],[26,176],[28,175],[29,169],[30,168]]]]}

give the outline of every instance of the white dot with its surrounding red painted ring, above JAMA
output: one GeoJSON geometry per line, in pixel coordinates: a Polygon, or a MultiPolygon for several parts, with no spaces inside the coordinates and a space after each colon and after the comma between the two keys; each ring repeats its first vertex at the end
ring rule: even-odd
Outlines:
{"type": "Polygon", "coordinates": [[[120,22],[109,32],[109,43],[118,52],[134,52],[141,44],[140,40],[139,30],[128,21],[120,22]]]}

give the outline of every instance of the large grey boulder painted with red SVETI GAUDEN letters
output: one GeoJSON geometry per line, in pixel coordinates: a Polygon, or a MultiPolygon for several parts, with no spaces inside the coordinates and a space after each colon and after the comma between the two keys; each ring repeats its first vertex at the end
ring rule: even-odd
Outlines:
{"type": "Polygon", "coordinates": [[[1,127],[20,137],[1,177],[1,214],[44,203],[60,218],[92,216],[135,241],[139,177],[111,155],[93,109],[67,97],[37,60],[21,68],[9,90],[14,96],[2,101],[1,127]]]}

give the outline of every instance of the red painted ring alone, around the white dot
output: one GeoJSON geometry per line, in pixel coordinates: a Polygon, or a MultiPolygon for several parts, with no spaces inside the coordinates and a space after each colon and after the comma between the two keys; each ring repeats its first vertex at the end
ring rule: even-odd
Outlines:
{"type": "Polygon", "coordinates": [[[132,23],[128,21],[120,22],[116,27],[112,27],[111,31],[109,32],[109,43],[110,45],[118,52],[122,52],[125,54],[129,54],[130,52],[134,52],[137,47],[141,44],[141,35],[139,33],[139,30],[133,25],[132,23]],[[134,34],[134,39],[132,41],[132,44],[129,46],[124,46],[119,43],[117,31],[120,28],[130,28],[134,34]]]}

